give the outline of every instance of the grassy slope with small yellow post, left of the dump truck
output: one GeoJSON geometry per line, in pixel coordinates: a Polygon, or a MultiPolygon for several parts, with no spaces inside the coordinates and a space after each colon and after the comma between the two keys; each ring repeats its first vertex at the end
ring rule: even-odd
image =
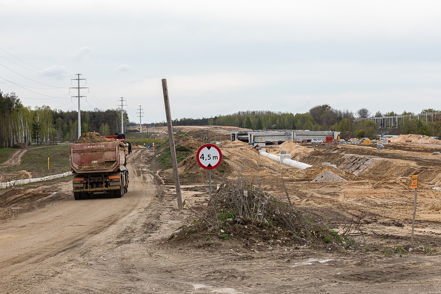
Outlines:
{"type": "Polygon", "coordinates": [[[8,180],[20,179],[18,172],[23,170],[31,172],[34,178],[70,172],[69,152],[69,145],[30,148],[23,154],[20,165],[3,167],[0,170],[5,174],[10,174],[12,178],[8,180]]]}

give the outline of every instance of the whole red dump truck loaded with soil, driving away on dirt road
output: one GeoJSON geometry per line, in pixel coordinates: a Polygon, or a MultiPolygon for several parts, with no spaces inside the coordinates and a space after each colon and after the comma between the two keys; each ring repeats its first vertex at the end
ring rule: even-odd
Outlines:
{"type": "Polygon", "coordinates": [[[128,188],[126,145],[120,141],[71,144],[73,197],[85,199],[93,193],[122,197],[128,188]]]}

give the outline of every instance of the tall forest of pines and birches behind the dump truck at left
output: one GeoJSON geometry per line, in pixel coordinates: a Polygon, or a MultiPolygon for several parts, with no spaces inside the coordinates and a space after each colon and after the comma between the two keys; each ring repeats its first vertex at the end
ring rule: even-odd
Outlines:
{"type": "MultiPolygon", "coordinates": [[[[123,121],[129,122],[126,113],[123,121]]],[[[81,111],[81,132],[89,131],[104,136],[121,132],[121,111],[81,111]]],[[[72,142],[77,138],[77,111],[52,110],[49,106],[24,107],[15,93],[0,91],[0,148],[16,143],[72,142]]]]}

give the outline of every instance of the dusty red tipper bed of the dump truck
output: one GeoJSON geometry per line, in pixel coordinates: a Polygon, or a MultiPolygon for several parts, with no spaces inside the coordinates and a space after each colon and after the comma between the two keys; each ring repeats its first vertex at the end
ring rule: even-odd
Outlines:
{"type": "Polygon", "coordinates": [[[116,172],[125,165],[125,146],[118,141],[71,144],[73,172],[116,172]]]}

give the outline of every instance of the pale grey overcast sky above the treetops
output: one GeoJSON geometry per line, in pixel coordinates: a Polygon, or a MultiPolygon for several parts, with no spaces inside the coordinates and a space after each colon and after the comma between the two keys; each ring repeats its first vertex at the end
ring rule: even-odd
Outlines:
{"type": "Polygon", "coordinates": [[[130,121],[441,109],[441,1],[0,0],[0,89],[130,121]],[[87,82],[87,84],[86,84],[87,82]],[[61,89],[59,89],[61,87],[61,89]],[[56,98],[60,97],[60,98],[56,98]]]}

